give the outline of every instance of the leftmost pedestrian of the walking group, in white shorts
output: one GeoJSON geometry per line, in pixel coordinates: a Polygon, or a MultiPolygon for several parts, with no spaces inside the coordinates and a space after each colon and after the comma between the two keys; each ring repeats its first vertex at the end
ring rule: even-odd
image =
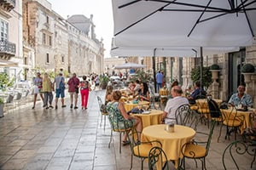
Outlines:
{"type": "Polygon", "coordinates": [[[35,109],[38,94],[40,95],[42,101],[44,101],[43,92],[42,92],[43,78],[41,77],[40,72],[38,72],[37,77],[34,78],[33,84],[34,84],[34,91],[33,91],[33,93],[34,93],[34,103],[33,103],[32,109],[35,109]]]}

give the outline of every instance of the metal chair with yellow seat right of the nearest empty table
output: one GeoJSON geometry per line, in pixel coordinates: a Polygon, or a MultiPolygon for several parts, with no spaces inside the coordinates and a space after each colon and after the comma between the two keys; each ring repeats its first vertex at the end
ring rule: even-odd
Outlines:
{"type": "MultiPolygon", "coordinates": [[[[208,151],[210,149],[210,144],[212,140],[212,133],[213,129],[215,127],[216,121],[212,121],[212,125],[210,127],[210,132],[207,133],[201,133],[207,135],[207,141],[205,142],[196,142],[195,140],[192,140],[189,143],[183,144],[182,147],[182,154],[183,154],[183,159],[181,161],[180,168],[181,169],[186,169],[185,168],[185,159],[194,159],[195,163],[196,160],[201,161],[201,169],[207,169],[206,167],[206,157],[208,155],[208,151]],[[204,144],[204,145],[202,145],[204,144]]],[[[197,167],[197,163],[196,163],[197,167]]]]}

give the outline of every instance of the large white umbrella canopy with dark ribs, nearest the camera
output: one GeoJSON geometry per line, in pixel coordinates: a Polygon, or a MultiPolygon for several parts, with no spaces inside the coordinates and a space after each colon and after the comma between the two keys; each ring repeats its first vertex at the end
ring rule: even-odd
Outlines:
{"type": "Polygon", "coordinates": [[[255,0],[119,0],[113,3],[119,48],[224,48],[252,45],[255,0]]]}

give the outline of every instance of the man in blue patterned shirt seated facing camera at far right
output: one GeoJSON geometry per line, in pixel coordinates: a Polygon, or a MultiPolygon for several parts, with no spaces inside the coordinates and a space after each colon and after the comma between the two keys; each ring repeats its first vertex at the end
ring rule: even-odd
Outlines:
{"type": "Polygon", "coordinates": [[[237,93],[233,94],[230,97],[229,105],[232,106],[247,106],[247,107],[253,107],[253,100],[249,94],[245,94],[245,86],[240,85],[237,88],[237,93]]]}

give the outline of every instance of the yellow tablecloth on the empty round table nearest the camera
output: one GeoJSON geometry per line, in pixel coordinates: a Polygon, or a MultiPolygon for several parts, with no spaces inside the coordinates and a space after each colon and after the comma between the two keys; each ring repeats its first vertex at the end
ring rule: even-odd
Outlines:
{"type": "Polygon", "coordinates": [[[174,160],[175,167],[177,167],[179,158],[183,157],[181,148],[183,144],[189,142],[195,136],[195,130],[190,127],[175,125],[174,133],[168,133],[165,128],[165,124],[143,128],[142,141],[160,141],[167,159],[174,160]]]}

